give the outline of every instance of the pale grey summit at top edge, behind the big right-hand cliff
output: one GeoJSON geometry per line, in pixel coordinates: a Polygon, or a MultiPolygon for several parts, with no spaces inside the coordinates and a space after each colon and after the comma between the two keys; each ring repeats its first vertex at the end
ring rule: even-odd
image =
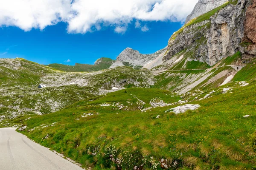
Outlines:
{"type": "Polygon", "coordinates": [[[221,6],[227,1],[228,0],[199,0],[191,14],[189,14],[189,16],[186,18],[186,23],[195,17],[199,17],[200,15],[205,14],[218,6],[221,6]]]}

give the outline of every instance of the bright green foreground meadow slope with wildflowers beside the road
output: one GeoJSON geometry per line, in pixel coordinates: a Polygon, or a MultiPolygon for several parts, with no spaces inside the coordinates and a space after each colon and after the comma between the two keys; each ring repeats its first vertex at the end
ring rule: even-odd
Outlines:
{"type": "Polygon", "coordinates": [[[127,93],[118,91],[77,102],[56,113],[34,116],[23,122],[28,126],[24,133],[95,170],[131,170],[135,166],[160,170],[161,160],[169,169],[253,169],[255,88],[251,82],[232,93],[217,93],[192,102],[201,105],[198,110],[179,115],[164,112],[176,105],[146,112],[112,107],[116,102],[135,104],[132,95],[145,105],[155,96],[165,102],[178,100],[169,91],[131,88],[126,89],[127,93]],[[100,106],[102,103],[111,105],[100,106]],[[94,114],[82,117],[88,113],[94,114]],[[247,114],[250,117],[243,118],[247,114]],[[53,126],[43,128],[43,124],[53,126]],[[49,138],[44,139],[47,134],[49,138]]]}

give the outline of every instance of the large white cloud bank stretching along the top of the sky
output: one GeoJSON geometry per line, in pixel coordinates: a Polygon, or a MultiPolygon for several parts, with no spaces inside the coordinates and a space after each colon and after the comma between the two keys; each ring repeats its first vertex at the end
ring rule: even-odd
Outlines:
{"type": "MultiPolygon", "coordinates": [[[[124,33],[132,20],[183,22],[198,0],[2,0],[0,26],[24,31],[58,22],[69,33],[86,33],[111,26],[124,33]],[[71,3],[73,2],[73,3],[71,3]]],[[[143,27],[141,27],[143,28],[143,27]]],[[[143,28],[147,30],[147,27],[143,28]]]]}

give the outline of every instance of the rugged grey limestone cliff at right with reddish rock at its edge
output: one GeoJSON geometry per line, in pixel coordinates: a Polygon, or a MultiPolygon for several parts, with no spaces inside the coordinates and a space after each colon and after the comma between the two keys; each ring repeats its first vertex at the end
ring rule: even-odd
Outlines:
{"type": "Polygon", "coordinates": [[[207,62],[210,66],[237,51],[255,55],[255,2],[238,0],[236,5],[227,3],[209,20],[186,24],[170,38],[163,62],[180,51],[185,51],[184,56],[207,62]],[[251,44],[248,49],[241,45],[244,39],[251,44]]]}

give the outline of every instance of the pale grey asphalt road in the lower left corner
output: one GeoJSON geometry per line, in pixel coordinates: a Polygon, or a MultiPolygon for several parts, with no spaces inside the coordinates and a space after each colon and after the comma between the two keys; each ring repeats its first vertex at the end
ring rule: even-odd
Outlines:
{"type": "Polygon", "coordinates": [[[0,170],[83,170],[15,128],[0,128],[0,170]]]}

